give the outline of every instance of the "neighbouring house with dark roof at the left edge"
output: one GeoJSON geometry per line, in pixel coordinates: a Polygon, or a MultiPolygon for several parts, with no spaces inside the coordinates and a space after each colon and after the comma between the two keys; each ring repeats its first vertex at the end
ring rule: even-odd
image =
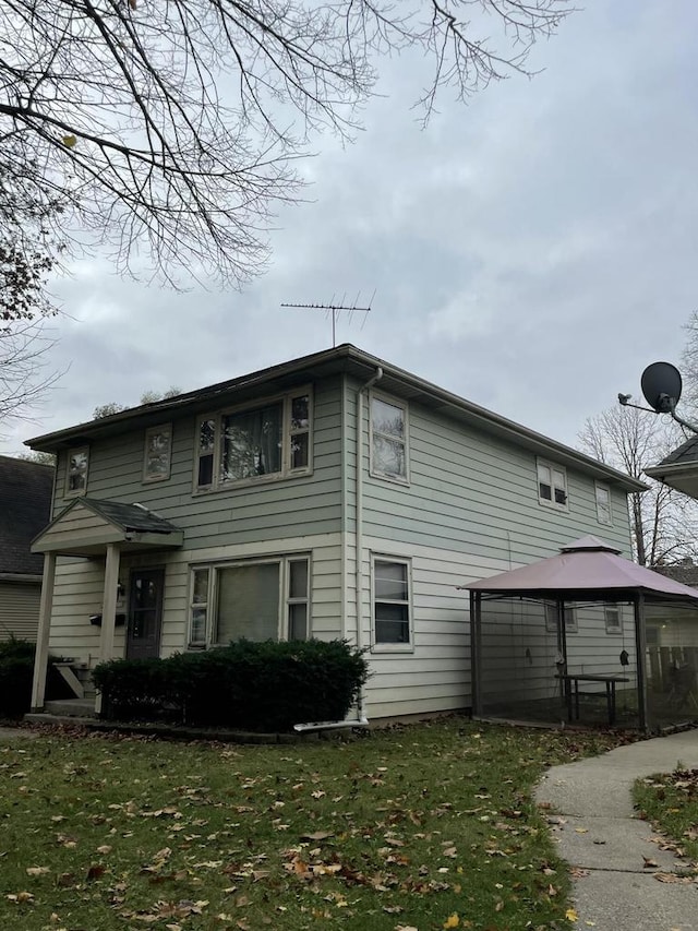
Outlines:
{"type": "Polygon", "coordinates": [[[36,640],[44,558],[31,546],[52,490],[52,466],[0,456],[0,641],[36,640]]]}

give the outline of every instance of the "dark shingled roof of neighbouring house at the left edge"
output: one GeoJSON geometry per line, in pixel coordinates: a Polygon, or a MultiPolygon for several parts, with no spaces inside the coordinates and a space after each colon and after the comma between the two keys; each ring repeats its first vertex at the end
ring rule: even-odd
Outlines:
{"type": "Polygon", "coordinates": [[[51,512],[52,466],[0,456],[0,578],[40,576],[44,558],[29,545],[51,512]]]}

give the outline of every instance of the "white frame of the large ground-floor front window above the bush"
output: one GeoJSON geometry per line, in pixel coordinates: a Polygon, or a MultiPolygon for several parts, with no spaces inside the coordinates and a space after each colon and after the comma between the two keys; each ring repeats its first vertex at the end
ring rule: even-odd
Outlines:
{"type": "Polygon", "coordinates": [[[226,560],[220,562],[196,563],[190,566],[189,582],[189,616],[186,622],[186,642],[190,648],[201,649],[216,646],[225,646],[226,643],[218,640],[218,618],[216,616],[218,604],[218,573],[226,569],[236,569],[237,566],[249,565],[278,565],[279,566],[279,611],[277,619],[277,640],[288,640],[291,606],[305,604],[305,638],[312,637],[312,571],[313,560],[310,552],[293,552],[274,554],[269,557],[258,557],[254,559],[238,559],[226,560]],[[290,596],[291,571],[292,562],[305,561],[308,563],[308,588],[305,597],[290,596]],[[208,572],[208,592],[206,602],[194,601],[194,580],[196,572],[208,572]],[[193,612],[194,608],[206,609],[206,634],[204,638],[193,638],[193,612]]]}

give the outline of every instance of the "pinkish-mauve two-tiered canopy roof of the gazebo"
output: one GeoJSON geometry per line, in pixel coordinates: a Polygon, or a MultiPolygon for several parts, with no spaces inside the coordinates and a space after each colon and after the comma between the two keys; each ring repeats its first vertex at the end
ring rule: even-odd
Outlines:
{"type": "Polygon", "coordinates": [[[698,607],[696,588],[624,559],[616,547],[593,536],[561,547],[559,556],[462,587],[488,595],[591,600],[643,594],[653,601],[682,601],[698,607]]]}

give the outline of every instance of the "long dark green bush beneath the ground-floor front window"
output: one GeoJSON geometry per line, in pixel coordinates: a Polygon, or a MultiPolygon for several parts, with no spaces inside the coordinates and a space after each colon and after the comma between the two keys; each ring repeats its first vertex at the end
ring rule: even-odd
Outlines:
{"type": "Polygon", "coordinates": [[[286,731],[342,720],[368,678],[363,652],[346,641],[237,641],[167,659],[100,664],[95,685],[112,720],[169,717],[182,724],[286,731]]]}

